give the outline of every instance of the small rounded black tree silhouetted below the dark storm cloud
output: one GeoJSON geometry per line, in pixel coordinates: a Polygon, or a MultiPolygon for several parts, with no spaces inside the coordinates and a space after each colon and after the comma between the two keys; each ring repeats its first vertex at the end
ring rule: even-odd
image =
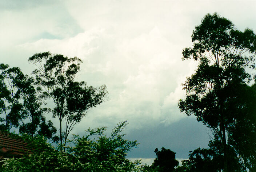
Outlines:
{"type": "Polygon", "coordinates": [[[154,159],[151,167],[157,171],[174,171],[174,167],[179,165],[179,161],[175,159],[175,152],[162,147],[161,151],[157,148],[154,151],[156,159],[154,159]]]}

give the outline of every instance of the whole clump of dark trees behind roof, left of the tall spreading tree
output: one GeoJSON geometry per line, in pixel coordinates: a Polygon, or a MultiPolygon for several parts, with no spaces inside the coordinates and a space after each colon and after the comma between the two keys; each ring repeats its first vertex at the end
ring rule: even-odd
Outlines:
{"type": "Polygon", "coordinates": [[[0,128],[9,131],[19,127],[20,133],[31,137],[39,133],[52,138],[56,128],[51,121],[46,122],[44,116],[49,112],[49,108],[43,107],[47,93],[35,87],[34,79],[24,75],[18,67],[0,64],[0,70],[0,128]]]}

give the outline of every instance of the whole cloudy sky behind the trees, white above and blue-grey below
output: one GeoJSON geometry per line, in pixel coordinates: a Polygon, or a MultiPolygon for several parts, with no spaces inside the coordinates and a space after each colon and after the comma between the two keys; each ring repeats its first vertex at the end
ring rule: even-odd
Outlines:
{"type": "Polygon", "coordinates": [[[109,95],[74,134],[100,126],[111,131],[128,120],[125,138],[140,143],[129,159],[151,164],[156,147],[187,159],[189,151],[207,148],[211,132],[178,109],[185,97],[181,83],[197,67],[182,61],[181,52],[192,45],[192,31],[207,13],[217,12],[239,30],[256,30],[255,7],[256,1],[231,0],[2,0],[0,63],[30,74],[35,66],[28,58],[35,53],[81,58],[76,80],[105,84],[109,95]]]}

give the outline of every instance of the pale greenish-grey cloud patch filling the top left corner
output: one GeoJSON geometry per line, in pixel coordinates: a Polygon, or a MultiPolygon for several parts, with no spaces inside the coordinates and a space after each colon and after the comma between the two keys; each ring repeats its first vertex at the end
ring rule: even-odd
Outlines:
{"type": "Polygon", "coordinates": [[[61,3],[8,1],[0,6],[1,49],[44,37],[69,37],[81,31],[61,3]]]}

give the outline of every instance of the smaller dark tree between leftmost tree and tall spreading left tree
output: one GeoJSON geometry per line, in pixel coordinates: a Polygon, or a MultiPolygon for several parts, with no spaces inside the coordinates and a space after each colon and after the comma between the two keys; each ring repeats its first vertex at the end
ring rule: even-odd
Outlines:
{"type": "Polygon", "coordinates": [[[46,122],[44,116],[45,113],[51,110],[49,108],[43,108],[46,105],[45,100],[49,98],[49,95],[41,87],[34,86],[33,83],[34,79],[26,75],[24,80],[17,84],[23,98],[23,113],[25,114],[25,118],[29,119],[27,123],[21,121],[22,124],[19,127],[19,133],[27,133],[31,137],[38,133],[48,139],[56,140],[56,137],[52,138],[52,136],[57,130],[51,120],[48,123],[46,122]]]}

